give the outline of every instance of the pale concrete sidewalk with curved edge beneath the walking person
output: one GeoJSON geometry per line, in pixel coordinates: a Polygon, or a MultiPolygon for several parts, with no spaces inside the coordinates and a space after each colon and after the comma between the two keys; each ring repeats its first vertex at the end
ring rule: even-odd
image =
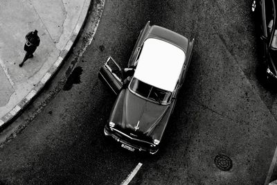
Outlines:
{"type": "Polygon", "coordinates": [[[91,0],[3,0],[0,6],[0,128],[44,87],[71,49],[91,0]],[[40,45],[23,67],[25,35],[40,45]]]}

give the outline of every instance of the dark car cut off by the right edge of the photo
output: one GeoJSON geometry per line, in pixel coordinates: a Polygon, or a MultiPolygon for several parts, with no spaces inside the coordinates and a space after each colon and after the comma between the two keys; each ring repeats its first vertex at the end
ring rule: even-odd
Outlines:
{"type": "Polygon", "coordinates": [[[252,11],[258,23],[258,35],[262,45],[263,73],[267,79],[277,79],[277,30],[276,30],[276,0],[253,0],[252,11]]]}

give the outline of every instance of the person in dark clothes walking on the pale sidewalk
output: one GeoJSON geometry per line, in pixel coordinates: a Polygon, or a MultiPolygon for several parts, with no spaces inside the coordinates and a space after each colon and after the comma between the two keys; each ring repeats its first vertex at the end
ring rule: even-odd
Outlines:
{"type": "Polygon", "coordinates": [[[29,32],[26,36],[26,43],[24,45],[24,50],[26,51],[26,55],[22,62],[19,64],[19,67],[22,67],[24,62],[28,60],[28,58],[33,58],[33,53],[35,52],[35,49],[37,49],[37,46],[39,46],[39,36],[37,35],[37,30],[29,32]]]}

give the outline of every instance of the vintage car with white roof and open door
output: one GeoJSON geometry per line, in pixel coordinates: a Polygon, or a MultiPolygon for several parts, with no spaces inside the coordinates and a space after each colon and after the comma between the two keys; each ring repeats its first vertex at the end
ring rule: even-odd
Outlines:
{"type": "Polygon", "coordinates": [[[109,57],[99,78],[117,95],[105,125],[105,136],[120,146],[155,154],[165,132],[190,64],[194,39],[150,26],[141,30],[128,68],[134,69],[129,80],[123,69],[109,57]]]}

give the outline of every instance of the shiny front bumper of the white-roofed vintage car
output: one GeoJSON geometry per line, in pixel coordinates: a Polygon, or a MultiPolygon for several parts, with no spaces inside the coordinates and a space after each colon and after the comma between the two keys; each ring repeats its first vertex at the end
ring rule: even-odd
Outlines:
{"type": "Polygon", "coordinates": [[[118,143],[124,144],[125,146],[129,146],[131,148],[134,148],[135,150],[138,151],[143,151],[143,152],[148,152],[151,155],[154,155],[158,152],[159,148],[145,148],[145,147],[141,147],[141,146],[136,146],[130,142],[125,141],[123,138],[121,138],[120,136],[117,136],[116,134],[112,133],[112,131],[109,129],[109,127],[107,127],[107,125],[105,125],[104,128],[104,134],[105,136],[111,136],[111,138],[113,138],[114,140],[116,140],[118,143]]]}

